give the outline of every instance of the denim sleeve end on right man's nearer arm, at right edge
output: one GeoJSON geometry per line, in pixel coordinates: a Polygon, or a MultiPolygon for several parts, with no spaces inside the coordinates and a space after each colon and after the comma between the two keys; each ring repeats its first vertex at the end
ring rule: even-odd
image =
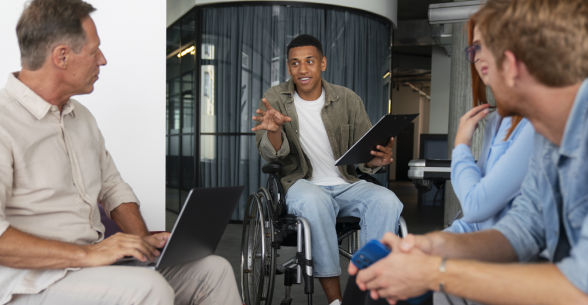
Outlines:
{"type": "MultiPolygon", "coordinates": [[[[588,198],[585,198],[588,201],[588,198]]],[[[586,202],[588,207],[588,202],[586,202]]],[[[588,294],[588,214],[582,223],[582,230],[578,242],[573,245],[570,256],[557,263],[556,266],[561,273],[576,288],[588,294]]]]}

